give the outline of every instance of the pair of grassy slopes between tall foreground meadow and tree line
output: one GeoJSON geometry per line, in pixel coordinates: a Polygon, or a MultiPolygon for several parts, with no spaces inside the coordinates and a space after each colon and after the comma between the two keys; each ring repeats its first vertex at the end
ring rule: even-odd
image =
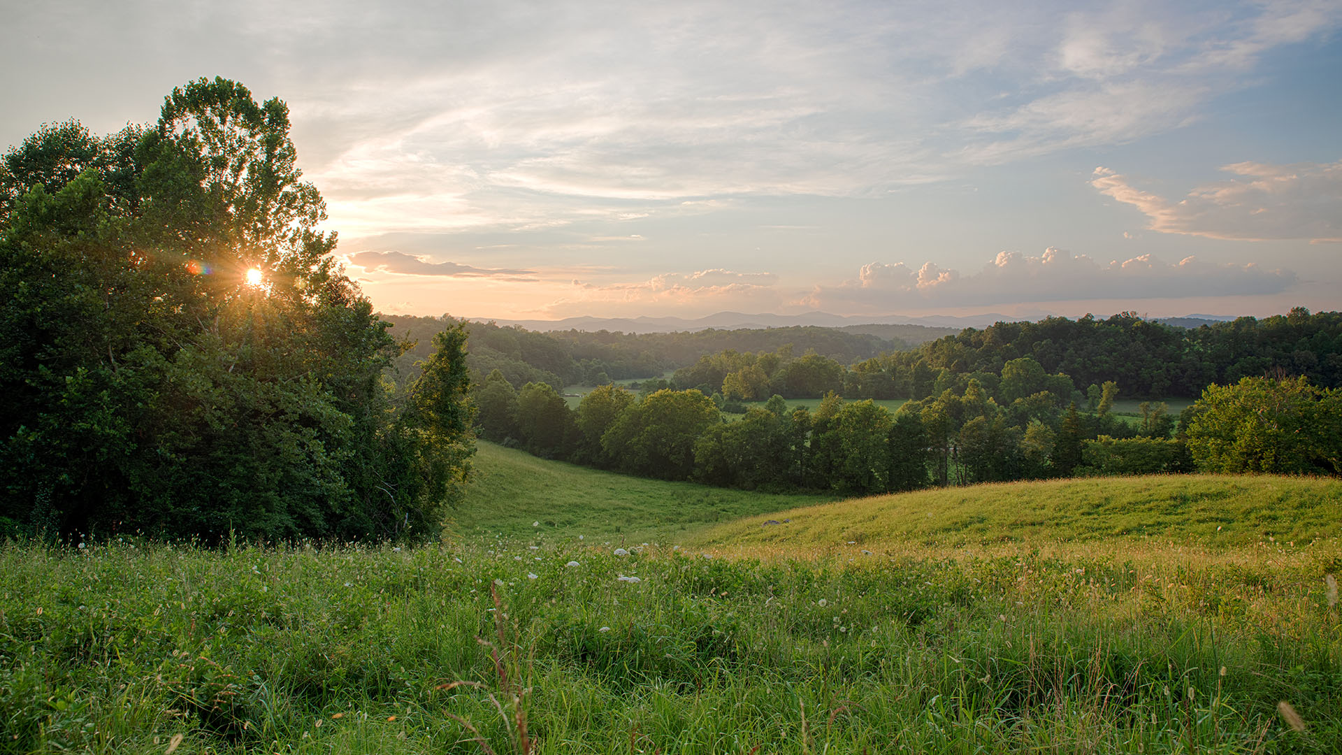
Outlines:
{"type": "Polygon", "coordinates": [[[872,548],[1147,537],[1303,545],[1342,532],[1342,481],[1299,477],[1045,480],[835,498],[646,480],[480,442],[452,529],[798,552],[849,541],[872,548]],[[792,521],[762,527],[770,519],[792,521]]]}

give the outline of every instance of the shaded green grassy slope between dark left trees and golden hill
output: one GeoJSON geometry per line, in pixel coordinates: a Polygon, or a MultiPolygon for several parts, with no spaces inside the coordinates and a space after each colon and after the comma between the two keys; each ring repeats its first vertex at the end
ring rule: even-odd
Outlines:
{"type": "Polygon", "coordinates": [[[837,497],[646,480],[539,459],[487,442],[479,442],[474,465],[475,478],[452,524],[464,535],[680,541],[707,524],[837,497]]]}

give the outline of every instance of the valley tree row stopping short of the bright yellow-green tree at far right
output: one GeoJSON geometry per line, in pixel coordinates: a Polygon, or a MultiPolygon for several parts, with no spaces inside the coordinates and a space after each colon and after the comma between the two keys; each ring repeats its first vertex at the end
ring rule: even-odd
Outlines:
{"type": "MultiPolygon", "coordinates": [[[[692,369],[729,369],[719,357],[703,357],[692,369]]],[[[792,364],[827,361],[835,364],[815,355],[792,364]]],[[[764,373],[754,365],[738,372],[749,369],[764,373]]],[[[792,375],[827,373],[805,369],[792,375]]],[[[1111,411],[1114,383],[1096,387],[1095,400],[1082,411],[1067,396],[1087,399],[1066,375],[1047,375],[1029,357],[1013,360],[1004,373],[989,375],[996,395],[970,379],[960,392],[946,388],[894,412],[872,399],[845,402],[832,391],[813,410],[789,408],[786,399],[774,395],[726,422],[719,408],[729,402],[699,390],[662,388],[635,396],[620,386],[603,386],[569,410],[549,386],[527,383],[515,391],[495,371],[476,394],[479,433],[546,458],[745,489],[884,493],[1192,470],[1182,438],[1169,439],[1174,418],[1164,404],[1143,403],[1141,419],[1125,420],[1111,411]]]]}

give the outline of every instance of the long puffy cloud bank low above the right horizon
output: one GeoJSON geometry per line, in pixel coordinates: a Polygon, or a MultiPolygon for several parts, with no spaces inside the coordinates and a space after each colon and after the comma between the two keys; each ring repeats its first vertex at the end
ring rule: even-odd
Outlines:
{"type": "Polygon", "coordinates": [[[892,313],[900,309],[992,306],[1076,300],[1146,300],[1275,294],[1291,287],[1291,271],[1256,265],[1216,265],[1186,257],[1164,263],[1150,254],[1102,265],[1083,254],[1045,249],[1002,251],[976,273],[926,262],[911,267],[872,262],[839,286],[816,286],[804,302],[825,310],[892,313]]]}

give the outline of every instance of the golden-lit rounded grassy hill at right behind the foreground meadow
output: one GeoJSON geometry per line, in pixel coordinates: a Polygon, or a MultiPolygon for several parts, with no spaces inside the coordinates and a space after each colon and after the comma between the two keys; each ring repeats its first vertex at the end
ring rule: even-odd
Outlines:
{"type": "Polygon", "coordinates": [[[1342,532],[1342,481],[1276,476],[1048,480],[854,498],[710,528],[703,547],[1141,540],[1304,545],[1342,532]],[[792,521],[761,527],[768,519],[792,521]]]}

